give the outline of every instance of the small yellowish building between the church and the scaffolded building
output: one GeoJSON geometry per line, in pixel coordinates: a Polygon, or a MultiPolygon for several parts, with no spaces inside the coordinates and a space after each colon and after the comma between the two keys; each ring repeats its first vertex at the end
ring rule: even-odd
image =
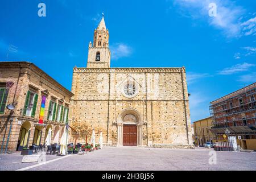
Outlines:
{"type": "Polygon", "coordinates": [[[195,135],[195,145],[203,146],[204,143],[211,142],[216,139],[216,136],[210,131],[213,126],[213,117],[200,119],[193,122],[193,129],[195,135]]]}

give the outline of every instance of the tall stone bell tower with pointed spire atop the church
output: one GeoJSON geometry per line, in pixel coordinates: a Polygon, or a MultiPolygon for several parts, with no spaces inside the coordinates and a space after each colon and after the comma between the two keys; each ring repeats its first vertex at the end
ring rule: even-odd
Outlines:
{"type": "Polygon", "coordinates": [[[109,68],[110,67],[109,50],[109,30],[106,29],[104,15],[97,29],[94,30],[93,45],[89,43],[87,68],[109,68]]]}

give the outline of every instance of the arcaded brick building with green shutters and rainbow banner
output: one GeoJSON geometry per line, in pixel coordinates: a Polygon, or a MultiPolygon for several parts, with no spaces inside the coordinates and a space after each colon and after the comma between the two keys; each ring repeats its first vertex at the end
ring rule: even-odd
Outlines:
{"type": "Polygon", "coordinates": [[[51,134],[52,143],[59,143],[68,122],[72,96],[69,90],[32,63],[0,62],[2,150],[7,140],[8,151],[18,150],[19,146],[44,144],[48,134],[51,134]],[[6,108],[10,104],[15,106],[12,115],[6,108]]]}

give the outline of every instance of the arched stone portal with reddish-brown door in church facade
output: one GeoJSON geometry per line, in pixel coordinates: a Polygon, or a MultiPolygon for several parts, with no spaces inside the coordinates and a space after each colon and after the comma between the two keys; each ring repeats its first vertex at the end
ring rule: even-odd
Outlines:
{"type": "Polygon", "coordinates": [[[117,146],[142,146],[142,119],[135,109],[125,109],[117,118],[117,146]]]}

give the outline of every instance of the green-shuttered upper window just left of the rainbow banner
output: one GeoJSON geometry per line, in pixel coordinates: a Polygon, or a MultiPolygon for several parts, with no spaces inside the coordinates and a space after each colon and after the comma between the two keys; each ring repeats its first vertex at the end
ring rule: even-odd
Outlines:
{"type": "Polygon", "coordinates": [[[24,105],[23,115],[35,117],[37,103],[38,103],[38,94],[28,90],[25,105],[24,105]]]}

